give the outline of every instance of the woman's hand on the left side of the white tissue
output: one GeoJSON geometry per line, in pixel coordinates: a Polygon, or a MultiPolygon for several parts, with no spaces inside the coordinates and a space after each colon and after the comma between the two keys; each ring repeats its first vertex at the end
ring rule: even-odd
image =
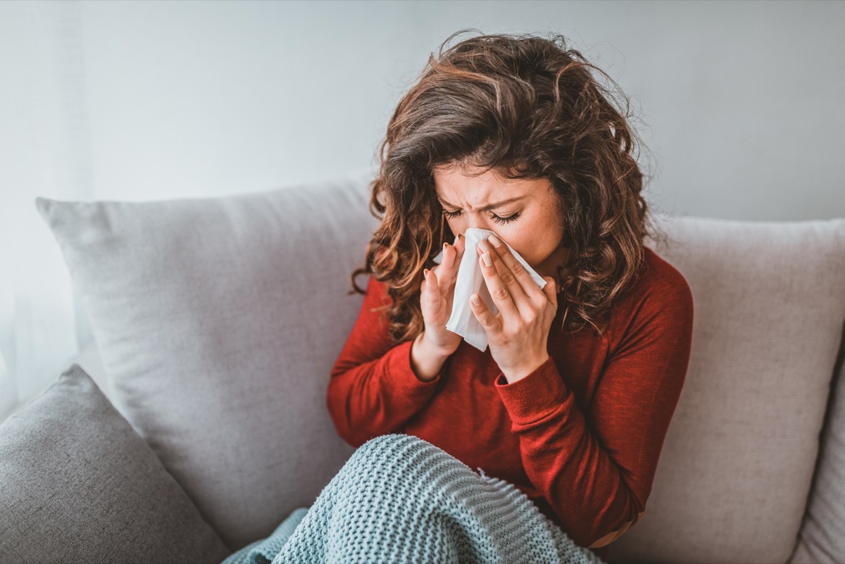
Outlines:
{"type": "Polygon", "coordinates": [[[428,341],[434,350],[443,355],[451,355],[458,349],[463,337],[446,328],[446,322],[452,315],[452,301],[455,296],[455,280],[458,266],[464,254],[466,239],[457,236],[455,245],[446,243],[443,259],[440,263],[424,272],[423,285],[420,286],[420,306],[423,309],[422,339],[428,341]]]}

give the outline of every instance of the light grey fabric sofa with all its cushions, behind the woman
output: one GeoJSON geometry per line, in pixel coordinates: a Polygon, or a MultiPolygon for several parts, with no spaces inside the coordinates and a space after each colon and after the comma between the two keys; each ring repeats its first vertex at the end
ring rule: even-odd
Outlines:
{"type": "MultiPolygon", "coordinates": [[[[95,343],[0,426],[0,562],[221,561],[313,503],[353,452],[325,392],[374,174],[36,199],[95,343]]],[[[690,366],[607,560],[845,561],[845,219],[654,221],[695,301],[690,366]]]]}

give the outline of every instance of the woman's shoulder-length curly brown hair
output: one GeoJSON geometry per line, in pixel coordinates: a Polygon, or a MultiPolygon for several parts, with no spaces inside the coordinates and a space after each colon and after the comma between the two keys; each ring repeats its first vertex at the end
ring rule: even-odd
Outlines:
{"type": "MultiPolygon", "coordinates": [[[[370,211],[380,219],[363,268],[384,282],[394,343],[423,332],[423,268],[452,241],[434,190],[435,168],[472,165],[510,179],[548,178],[569,247],[559,301],[563,327],[607,318],[639,276],[643,239],[662,238],[646,217],[637,165],[640,138],[629,127],[630,100],[607,73],[562,35],[478,35],[433,53],[396,106],[379,146],[370,211]],[[625,102],[624,114],[605,78],[625,102]],[[615,105],[614,105],[615,104],[615,105]],[[635,150],[637,156],[634,155],[635,150]]],[[[480,33],[480,32],[479,32],[480,33]]]]}

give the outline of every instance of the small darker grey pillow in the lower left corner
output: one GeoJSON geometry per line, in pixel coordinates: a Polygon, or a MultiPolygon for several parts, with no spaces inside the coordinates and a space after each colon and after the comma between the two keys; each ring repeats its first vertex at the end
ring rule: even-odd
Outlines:
{"type": "Polygon", "coordinates": [[[229,550],[74,364],[0,426],[0,561],[219,562],[229,550]]]}

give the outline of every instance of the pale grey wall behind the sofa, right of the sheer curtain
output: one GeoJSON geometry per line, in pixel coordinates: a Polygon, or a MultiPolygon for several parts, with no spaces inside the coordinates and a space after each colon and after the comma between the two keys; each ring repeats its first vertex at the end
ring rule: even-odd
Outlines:
{"type": "Polygon", "coordinates": [[[80,20],[97,198],[368,166],[428,53],[477,27],[558,31],[619,82],[656,208],[845,216],[842,2],[83,2],[80,20]]]}

